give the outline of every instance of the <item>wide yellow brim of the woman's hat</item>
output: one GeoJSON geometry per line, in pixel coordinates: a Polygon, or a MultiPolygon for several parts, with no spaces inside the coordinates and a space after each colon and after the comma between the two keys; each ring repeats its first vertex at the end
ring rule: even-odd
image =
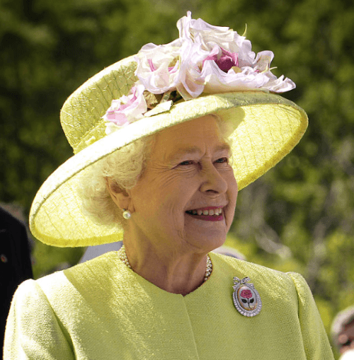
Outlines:
{"type": "Polygon", "coordinates": [[[217,114],[231,122],[233,168],[239,189],[275,166],[301,139],[307,115],[295,103],[273,93],[236,91],[177,103],[168,112],[145,117],[103,137],[69,158],[44,182],[30,210],[30,230],[48,245],[75,247],[122,238],[116,224],[99,226],[81,211],[76,192],[79,174],[113,151],[181,122],[217,114]]]}

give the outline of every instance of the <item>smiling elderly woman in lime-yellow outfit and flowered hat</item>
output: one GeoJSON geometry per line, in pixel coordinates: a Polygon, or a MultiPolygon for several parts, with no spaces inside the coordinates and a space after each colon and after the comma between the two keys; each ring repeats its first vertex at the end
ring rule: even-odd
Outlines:
{"type": "Polygon", "coordinates": [[[62,109],[75,155],[42,185],[45,243],[118,252],[19,286],[5,359],[333,359],[295,273],[211,253],[238,190],[297,144],[307,116],[275,95],[272,52],[188,16],[84,83],[62,109]]]}

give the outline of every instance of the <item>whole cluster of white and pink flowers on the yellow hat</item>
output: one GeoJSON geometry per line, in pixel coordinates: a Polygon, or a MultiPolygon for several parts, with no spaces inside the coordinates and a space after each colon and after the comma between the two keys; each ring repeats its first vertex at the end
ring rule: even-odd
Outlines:
{"type": "MultiPolygon", "coordinates": [[[[202,93],[283,93],[295,88],[292,80],[272,74],[273,52],[256,55],[251,42],[236,31],[192,19],[190,11],[178,20],[177,28],[178,39],[165,45],[149,43],[135,56],[135,75],[139,80],[129,95],[113,100],[103,116],[107,134],[144,116],[148,108],[144,96],[149,93],[164,94],[164,102],[173,92],[190,100],[202,93]]],[[[170,105],[161,106],[159,112],[169,108],[170,105]]]]}

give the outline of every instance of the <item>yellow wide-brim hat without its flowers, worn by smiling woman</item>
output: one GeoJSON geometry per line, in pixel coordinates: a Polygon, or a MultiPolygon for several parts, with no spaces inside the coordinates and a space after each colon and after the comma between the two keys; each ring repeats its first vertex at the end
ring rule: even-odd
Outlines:
{"type": "Polygon", "coordinates": [[[76,247],[122,240],[120,226],[97,225],[81,211],[76,189],[82,171],[137,139],[217,114],[232,122],[232,166],[241,190],[287,155],[307,128],[302,108],[280,95],[256,90],[200,95],[106,135],[103,115],[113,99],[129,93],[137,81],[136,69],[134,57],[123,59],[86,81],[64,103],[61,122],[74,156],[47,178],[30,209],[30,230],[43,243],[76,247]]]}

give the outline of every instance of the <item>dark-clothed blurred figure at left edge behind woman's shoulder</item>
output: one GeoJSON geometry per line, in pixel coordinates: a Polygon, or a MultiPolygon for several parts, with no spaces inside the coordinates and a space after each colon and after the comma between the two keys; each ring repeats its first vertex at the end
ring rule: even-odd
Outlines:
{"type": "Polygon", "coordinates": [[[25,224],[0,207],[0,359],[13,293],[22,281],[30,278],[33,272],[25,224]]]}

